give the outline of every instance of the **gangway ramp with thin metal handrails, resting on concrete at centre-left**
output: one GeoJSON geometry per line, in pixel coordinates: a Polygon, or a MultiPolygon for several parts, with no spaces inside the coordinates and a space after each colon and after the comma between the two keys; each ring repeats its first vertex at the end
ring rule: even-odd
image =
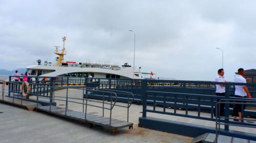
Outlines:
{"type": "MultiPolygon", "coordinates": [[[[54,88],[54,87],[53,87],[54,88]]],[[[52,113],[54,115],[58,115],[61,117],[86,122],[90,124],[90,127],[93,127],[94,125],[102,126],[104,128],[109,128],[112,130],[113,133],[117,133],[118,129],[129,127],[129,129],[133,128],[133,123],[129,122],[129,108],[134,100],[133,93],[130,92],[123,92],[123,91],[114,91],[114,90],[108,90],[108,89],[97,89],[97,88],[87,88],[83,86],[67,86],[67,87],[58,87],[58,90],[62,90],[62,93],[65,93],[63,91],[66,91],[66,95],[58,96],[53,94],[52,97],[41,97],[37,96],[37,101],[39,98],[49,100],[50,105],[48,106],[37,106],[37,110],[46,111],[49,113],[52,113]],[[77,97],[71,97],[69,95],[70,90],[80,90],[83,94],[81,95],[81,98],[77,97]],[[102,100],[92,100],[88,98],[88,95],[91,92],[97,92],[101,93],[102,100]],[[128,96],[127,98],[127,104],[126,106],[123,105],[117,105],[117,94],[126,94],[128,96]],[[108,99],[108,101],[106,101],[108,99]],[[62,103],[65,103],[65,107],[58,107],[54,106],[51,103],[61,101],[62,103]],[[92,103],[89,103],[89,102],[92,103]],[[76,111],[69,109],[69,104],[80,104],[82,106],[82,111],[76,111]],[[101,106],[99,106],[101,104],[101,106]],[[95,113],[89,113],[88,107],[96,107],[102,109],[102,116],[96,115],[95,113]],[[112,117],[112,110],[115,106],[124,107],[127,108],[127,121],[121,121],[118,119],[113,119],[112,117]],[[109,115],[106,117],[104,115],[105,110],[109,110],[109,115]]],[[[55,92],[54,92],[55,93],[55,92]]],[[[63,105],[63,104],[62,104],[63,105]]]]}

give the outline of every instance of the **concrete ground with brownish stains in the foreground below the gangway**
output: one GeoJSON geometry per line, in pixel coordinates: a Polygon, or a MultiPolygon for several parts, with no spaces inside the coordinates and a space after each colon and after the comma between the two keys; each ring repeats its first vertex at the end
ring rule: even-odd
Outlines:
{"type": "Polygon", "coordinates": [[[102,127],[90,128],[48,113],[29,111],[0,102],[0,142],[190,142],[192,138],[134,126],[112,134],[102,127]]]}

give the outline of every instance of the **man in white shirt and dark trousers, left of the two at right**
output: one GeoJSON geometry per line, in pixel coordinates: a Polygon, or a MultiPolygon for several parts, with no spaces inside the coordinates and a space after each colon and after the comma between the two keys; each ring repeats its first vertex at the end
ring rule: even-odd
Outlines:
{"type": "MultiPolygon", "coordinates": [[[[218,70],[218,76],[215,78],[216,82],[228,82],[224,77],[224,70],[219,69],[218,70]]],[[[225,85],[224,84],[216,84],[216,95],[225,97],[225,85]]],[[[219,102],[220,99],[217,99],[217,102],[219,102]]],[[[220,116],[224,116],[224,104],[220,104],[220,116]]]]}

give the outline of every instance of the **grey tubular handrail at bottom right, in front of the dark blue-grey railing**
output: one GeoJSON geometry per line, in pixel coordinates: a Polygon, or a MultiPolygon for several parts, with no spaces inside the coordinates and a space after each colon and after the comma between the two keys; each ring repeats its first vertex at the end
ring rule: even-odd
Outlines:
{"type": "MultiPolygon", "coordinates": [[[[215,137],[216,143],[218,143],[218,135],[220,134],[220,125],[256,128],[256,124],[246,124],[246,125],[243,125],[243,123],[240,123],[240,124],[232,124],[231,123],[230,124],[229,121],[226,123],[225,120],[221,120],[221,119],[234,120],[234,119],[237,119],[237,118],[221,117],[220,116],[220,104],[255,105],[256,100],[255,99],[221,99],[219,102],[216,103],[216,137],[215,137]],[[234,101],[234,102],[230,102],[230,101],[234,101]],[[246,103],[246,101],[255,102],[255,103],[246,103]],[[223,121],[223,122],[221,122],[221,121],[223,121]]],[[[243,113],[242,113],[242,115],[243,115],[243,113]]],[[[243,119],[243,118],[239,119],[239,120],[242,120],[242,121],[256,121],[256,120],[243,119]]]]}

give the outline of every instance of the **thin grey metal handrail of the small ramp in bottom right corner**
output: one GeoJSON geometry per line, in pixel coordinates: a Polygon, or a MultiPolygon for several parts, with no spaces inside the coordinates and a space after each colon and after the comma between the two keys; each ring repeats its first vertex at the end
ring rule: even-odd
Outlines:
{"type": "Polygon", "coordinates": [[[244,110],[246,105],[255,106],[256,99],[221,99],[219,102],[216,103],[216,143],[218,142],[218,136],[221,134],[221,125],[224,126],[235,126],[235,127],[247,127],[247,128],[254,128],[256,129],[256,119],[253,118],[244,118],[244,110]],[[231,118],[231,117],[222,117],[220,115],[220,106],[221,104],[229,105],[229,104],[240,104],[241,105],[241,113],[242,119],[239,118],[231,118]],[[230,120],[237,121],[237,122],[229,122],[230,120]],[[241,122],[239,122],[241,120],[241,122]],[[248,124],[244,124],[244,123],[248,124]]]}

